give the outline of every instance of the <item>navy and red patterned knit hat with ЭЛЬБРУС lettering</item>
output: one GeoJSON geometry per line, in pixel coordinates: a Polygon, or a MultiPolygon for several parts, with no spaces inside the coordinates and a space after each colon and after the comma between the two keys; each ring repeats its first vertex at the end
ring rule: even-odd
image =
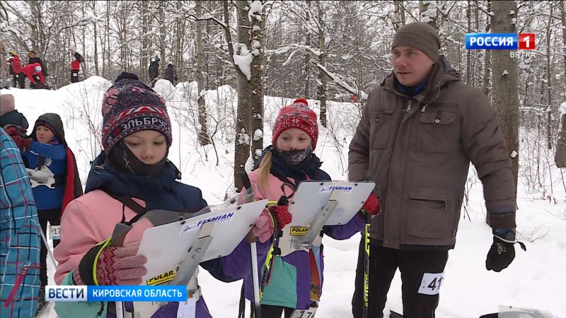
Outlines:
{"type": "Polygon", "coordinates": [[[171,120],[165,100],[134,73],[120,73],[106,90],[102,115],[102,146],[106,155],[125,136],[148,129],[165,135],[167,146],[171,146],[171,120]]]}

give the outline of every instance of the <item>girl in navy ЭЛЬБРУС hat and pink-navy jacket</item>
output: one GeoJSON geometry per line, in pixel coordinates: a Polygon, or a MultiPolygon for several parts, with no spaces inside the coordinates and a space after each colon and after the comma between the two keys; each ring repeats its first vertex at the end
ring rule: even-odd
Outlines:
{"type": "MultiPolygon", "coordinates": [[[[136,211],[191,213],[207,206],[200,189],[175,181],[180,172],[167,160],[171,122],[161,95],[135,74],[123,72],[106,91],[102,112],[105,151],[93,163],[85,194],[71,201],[61,220],[61,242],[54,251],[59,285],[141,284],[146,257],[137,255],[137,249],[144,231],[153,225],[146,218],[132,220],[139,216],[136,211]],[[123,246],[110,245],[115,225],[125,221],[132,229],[123,246]]],[[[260,228],[255,232],[265,235],[260,228]]],[[[267,249],[265,245],[260,249],[267,249]]],[[[221,281],[241,279],[251,271],[250,244],[243,240],[229,256],[201,266],[221,281]]],[[[196,273],[188,288],[197,300],[195,317],[210,318],[196,273]]],[[[150,309],[139,309],[125,302],[125,310],[135,317],[177,317],[178,302],[151,304],[150,309]]],[[[55,310],[60,318],[115,317],[115,305],[108,302],[57,302],[55,310]]]]}

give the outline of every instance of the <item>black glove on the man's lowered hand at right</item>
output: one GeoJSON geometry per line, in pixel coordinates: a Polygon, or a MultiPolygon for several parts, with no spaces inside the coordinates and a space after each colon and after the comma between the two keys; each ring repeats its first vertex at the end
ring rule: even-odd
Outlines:
{"type": "Polygon", "coordinates": [[[507,269],[515,258],[515,243],[519,243],[521,248],[526,250],[523,243],[515,241],[514,229],[494,230],[493,244],[485,259],[485,269],[497,272],[507,269]]]}

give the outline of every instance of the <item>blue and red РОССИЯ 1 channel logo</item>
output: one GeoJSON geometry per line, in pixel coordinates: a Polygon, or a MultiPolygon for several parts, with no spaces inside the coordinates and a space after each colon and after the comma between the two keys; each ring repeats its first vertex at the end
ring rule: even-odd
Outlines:
{"type": "Polygon", "coordinates": [[[535,35],[534,33],[468,33],[466,49],[535,49],[535,35]]]}

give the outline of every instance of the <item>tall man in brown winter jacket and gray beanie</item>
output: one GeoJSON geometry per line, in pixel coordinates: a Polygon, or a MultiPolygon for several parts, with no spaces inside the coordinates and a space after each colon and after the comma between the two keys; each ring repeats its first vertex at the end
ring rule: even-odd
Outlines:
{"type": "MultiPolygon", "coordinates": [[[[494,234],[487,270],[515,256],[514,179],[497,114],[439,56],[436,31],[405,25],[391,47],[393,72],[369,95],[349,154],[350,180],[373,179],[381,203],[370,230],[369,317],[383,317],[397,268],[404,317],[434,317],[470,161],[494,234]]],[[[363,269],[359,262],[354,318],[362,317],[363,269]]]]}

